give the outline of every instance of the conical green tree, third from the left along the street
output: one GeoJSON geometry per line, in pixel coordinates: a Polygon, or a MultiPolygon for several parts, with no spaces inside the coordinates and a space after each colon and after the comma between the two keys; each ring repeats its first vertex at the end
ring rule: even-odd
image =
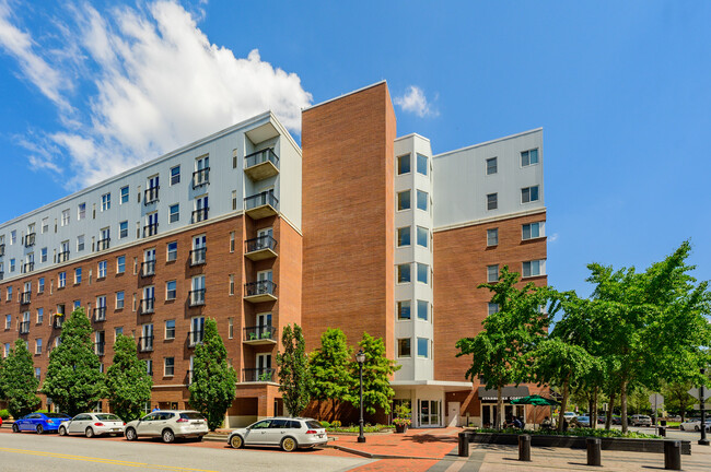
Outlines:
{"type": "Polygon", "coordinates": [[[145,363],[138,358],[136,340],[119,334],[114,343],[114,359],[106,370],[112,411],[126,422],[139,418],[143,404],[151,400],[152,386],[145,363]]]}

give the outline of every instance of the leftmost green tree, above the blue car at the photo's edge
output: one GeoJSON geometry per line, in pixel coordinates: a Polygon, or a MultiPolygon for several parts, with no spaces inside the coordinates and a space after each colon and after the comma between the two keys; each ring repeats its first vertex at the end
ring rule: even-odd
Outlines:
{"type": "Polygon", "coordinates": [[[39,380],[35,377],[34,362],[23,340],[16,340],[10,355],[4,361],[0,371],[2,390],[8,399],[8,411],[18,418],[31,413],[39,403],[37,387],[39,380]]]}

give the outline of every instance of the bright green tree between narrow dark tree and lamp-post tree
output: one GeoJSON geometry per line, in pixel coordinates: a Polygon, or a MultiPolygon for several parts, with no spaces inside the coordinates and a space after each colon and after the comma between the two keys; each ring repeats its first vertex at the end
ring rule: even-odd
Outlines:
{"type": "Polygon", "coordinates": [[[353,349],[348,345],[346,334],[340,329],[328,328],[320,335],[320,347],[311,354],[311,396],[315,400],[334,402],[336,416],[340,416],[342,405],[352,402],[357,380],[351,371],[353,349]]]}

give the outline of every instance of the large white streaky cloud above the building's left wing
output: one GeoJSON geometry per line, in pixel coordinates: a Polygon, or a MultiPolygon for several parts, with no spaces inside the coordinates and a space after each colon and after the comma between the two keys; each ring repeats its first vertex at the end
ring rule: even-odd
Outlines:
{"type": "MultiPolygon", "coordinates": [[[[47,134],[54,146],[46,149],[59,149],[61,155],[35,152],[33,162],[49,169],[69,166],[68,187],[94,184],[268,109],[288,129],[300,131],[301,109],[312,102],[300,78],[261,60],[257,49],[235,58],[211,44],[182,5],[161,0],[106,14],[89,4],[68,11],[75,25],[58,27],[68,51],[58,55],[62,63],[50,66],[27,54],[33,45],[28,34],[12,49],[24,51],[13,54],[23,71],[44,63],[57,74],[47,85],[33,79],[35,72],[25,72],[57,104],[62,125],[47,134]],[[77,39],[67,35],[72,31],[77,39]],[[82,93],[93,93],[62,96],[68,80],[59,70],[88,76],[82,93]],[[62,116],[62,101],[83,111],[71,119],[62,116]]],[[[0,45],[9,49],[12,42],[2,25],[12,33],[18,28],[8,17],[0,14],[0,45]]]]}

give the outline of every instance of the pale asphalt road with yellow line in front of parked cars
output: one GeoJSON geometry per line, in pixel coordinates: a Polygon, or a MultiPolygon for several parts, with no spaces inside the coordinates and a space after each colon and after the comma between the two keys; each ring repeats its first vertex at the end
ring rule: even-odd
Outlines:
{"type": "Polygon", "coordinates": [[[372,462],[337,457],[329,450],[281,452],[276,449],[231,449],[224,442],[164,445],[154,440],[59,437],[0,433],[0,471],[96,472],[152,470],[221,471],[346,471],[372,462]]]}

